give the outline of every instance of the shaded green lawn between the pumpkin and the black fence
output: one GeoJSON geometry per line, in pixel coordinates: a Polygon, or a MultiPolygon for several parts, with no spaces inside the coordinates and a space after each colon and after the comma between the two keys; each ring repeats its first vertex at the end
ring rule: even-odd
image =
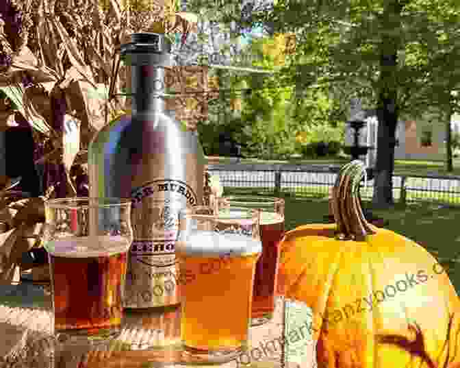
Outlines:
{"type": "MultiPolygon", "coordinates": [[[[363,205],[370,207],[366,201],[363,205]]],[[[328,212],[328,202],[324,198],[288,197],[285,199],[286,230],[307,223],[323,223],[328,212]]],[[[448,271],[460,295],[460,208],[411,204],[372,212],[389,221],[389,230],[411,238],[435,256],[448,271]]]]}

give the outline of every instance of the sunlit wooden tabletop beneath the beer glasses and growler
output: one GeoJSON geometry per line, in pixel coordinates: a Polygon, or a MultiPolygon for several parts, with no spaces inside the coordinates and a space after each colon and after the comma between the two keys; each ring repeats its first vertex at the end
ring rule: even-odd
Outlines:
{"type": "MultiPolygon", "coordinates": [[[[24,294],[23,291],[21,293],[24,294]]],[[[32,306],[31,309],[34,305],[40,305],[42,310],[47,311],[51,324],[51,295],[45,294],[42,296],[43,300],[36,302],[24,300],[24,303],[28,303],[25,308],[32,306]]],[[[37,295],[37,293],[34,294],[34,299],[40,299],[37,295]]],[[[5,296],[3,293],[0,295],[0,305],[6,302],[8,302],[8,295],[5,296]]],[[[286,306],[290,304],[285,302],[284,298],[278,298],[274,319],[262,326],[250,328],[250,349],[234,360],[220,363],[217,366],[222,368],[313,368],[315,366],[314,344],[311,336],[303,336],[300,344],[299,339],[290,340],[292,332],[296,332],[294,331],[296,326],[299,323],[306,323],[309,316],[305,313],[305,308],[288,312],[286,306]],[[286,327],[288,325],[289,328],[286,327]]],[[[181,349],[180,315],[180,308],[169,308],[163,312],[153,308],[138,311],[125,310],[122,322],[123,334],[120,338],[102,347],[94,347],[88,343],[56,343],[53,345],[53,354],[50,357],[52,361],[49,367],[202,367],[203,362],[189,358],[181,349]],[[144,343],[146,335],[149,336],[149,344],[144,343]]],[[[28,365],[24,367],[34,368],[28,365]]]]}

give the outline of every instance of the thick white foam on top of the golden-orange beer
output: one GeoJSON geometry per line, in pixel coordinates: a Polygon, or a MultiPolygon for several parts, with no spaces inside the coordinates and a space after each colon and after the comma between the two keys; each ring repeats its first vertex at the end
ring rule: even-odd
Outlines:
{"type": "Polygon", "coordinates": [[[209,257],[248,256],[262,252],[262,243],[242,234],[191,230],[188,235],[179,237],[176,251],[187,255],[209,257]]]}

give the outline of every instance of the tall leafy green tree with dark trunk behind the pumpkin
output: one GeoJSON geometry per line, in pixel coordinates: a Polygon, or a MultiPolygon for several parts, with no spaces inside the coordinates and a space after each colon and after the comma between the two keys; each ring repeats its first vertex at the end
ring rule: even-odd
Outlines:
{"type": "Polygon", "coordinates": [[[424,0],[339,0],[328,2],[326,7],[319,1],[279,0],[272,12],[259,14],[261,19],[274,24],[275,32],[296,32],[300,39],[296,60],[285,73],[301,81],[304,89],[314,83],[342,82],[366,97],[368,106],[376,107],[376,206],[389,206],[393,201],[398,117],[410,114],[407,102],[413,101],[411,95],[418,93],[421,82],[435,81],[435,77],[430,77],[434,60],[428,58],[421,66],[405,62],[404,56],[410,59],[417,54],[419,45],[437,45],[438,34],[445,29],[440,20],[458,21],[458,2],[444,0],[435,4],[424,0]],[[439,11],[441,8],[448,15],[439,11]],[[433,14],[438,18],[434,19],[433,14]],[[299,69],[305,78],[299,78],[299,69]]]}

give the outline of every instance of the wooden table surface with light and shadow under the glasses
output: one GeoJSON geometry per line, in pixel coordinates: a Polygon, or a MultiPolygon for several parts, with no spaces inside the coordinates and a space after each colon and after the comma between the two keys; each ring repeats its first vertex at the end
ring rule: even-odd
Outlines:
{"type": "MultiPolygon", "coordinates": [[[[47,288],[34,284],[19,284],[0,287],[0,313],[11,314],[20,311],[29,315],[23,319],[23,330],[12,337],[12,354],[8,353],[10,365],[23,364],[30,368],[148,368],[172,366],[202,366],[203,361],[190,357],[183,352],[180,342],[180,308],[166,310],[125,310],[122,321],[122,334],[111,343],[95,344],[60,341],[51,336],[51,295],[47,288]],[[34,317],[46,319],[47,326],[31,329],[34,317]],[[24,334],[23,332],[27,332],[24,334]]],[[[288,305],[288,304],[286,304],[288,305]]],[[[227,363],[218,364],[221,368],[312,368],[313,342],[303,339],[293,342],[291,331],[298,329],[298,323],[307,318],[305,308],[289,304],[285,310],[283,299],[277,300],[275,316],[262,326],[251,328],[251,347],[244,357],[242,354],[227,363]],[[286,319],[290,323],[286,323],[286,319]],[[283,326],[287,326],[283,328],[283,326]],[[286,345],[276,351],[264,349],[271,341],[282,340],[286,345]],[[257,354],[256,351],[258,351],[257,354]],[[260,355],[260,352],[267,352],[260,355]],[[297,354],[299,352],[300,354],[297,354]],[[283,364],[285,360],[285,364],[283,364]]],[[[20,313],[20,314],[21,314],[20,313]]],[[[17,315],[17,313],[16,313],[17,315]]],[[[5,317],[5,316],[3,316],[5,317]]],[[[224,318],[222,316],[222,318],[224,318]]],[[[14,326],[14,321],[9,326],[14,326]]],[[[0,326],[1,327],[1,326],[0,326]]],[[[0,336],[5,332],[0,331],[0,336]]],[[[295,331],[294,331],[295,332],[295,331]]],[[[283,343],[284,344],[284,343],[283,343]]],[[[1,359],[0,359],[1,360],[1,359]]],[[[0,365],[1,366],[1,365],[0,365]]]]}

